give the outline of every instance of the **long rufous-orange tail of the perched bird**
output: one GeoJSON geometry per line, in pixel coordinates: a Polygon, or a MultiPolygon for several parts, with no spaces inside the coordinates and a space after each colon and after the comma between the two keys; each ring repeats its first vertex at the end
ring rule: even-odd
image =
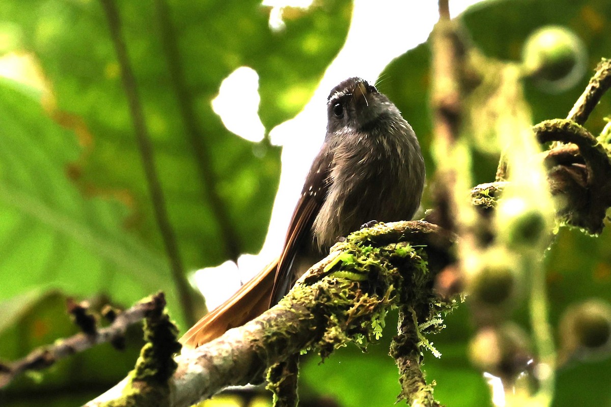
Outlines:
{"type": "Polygon", "coordinates": [[[241,286],[229,300],[204,315],[179,339],[180,343],[187,348],[197,348],[263,314],[269,308],[277,265],[276,259],[241,286]]]}

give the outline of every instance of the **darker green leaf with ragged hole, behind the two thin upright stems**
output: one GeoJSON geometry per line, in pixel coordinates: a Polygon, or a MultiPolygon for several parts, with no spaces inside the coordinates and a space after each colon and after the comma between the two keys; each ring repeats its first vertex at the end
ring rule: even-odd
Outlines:
{"type": "MultiPolygon", "coordinates": [[[[92,134],[78,182],[93,193],[119,189],[133,195],[133,232],[161,250],[103,10],[95,1],[14,4],[3,18],[23,24],[27,49],[40,58],[59,109],[82,117],[92,134]]],[[[256,251],[270,213],[260,202],[276,192],[279,151],[263,144],[255,154],[251,142],[225,130],[210,101],[224,77],[247,65],[260,73],[268,129],[291,117],[342,44],[349,7],[327,2],[276,33],[268,27],[268,9],[252,0],[117,4],[186,268],[256,251]],[[302,88],[309,91],[298,93],[292,106],[282,103],[302,88]]]]}

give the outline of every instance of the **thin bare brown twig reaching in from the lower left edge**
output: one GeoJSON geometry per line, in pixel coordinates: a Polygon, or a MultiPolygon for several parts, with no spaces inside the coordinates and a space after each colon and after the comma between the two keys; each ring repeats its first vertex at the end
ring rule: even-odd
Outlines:
{"type": "Polygon", "coordinates": [[[10,383],[16,376],[27,370],[41,370],[61,359],[80,353],[95,345],[116,342],[125,335],[131,325],[141,322],[153,309],[165,306],[163,293],[153,295],[123,311],[111,325],[95,330],[92,334],[78,333],[66,339],[57,340],[53,345],[36,348],[25,358],[0,366],[0,388],[10,383]]]}

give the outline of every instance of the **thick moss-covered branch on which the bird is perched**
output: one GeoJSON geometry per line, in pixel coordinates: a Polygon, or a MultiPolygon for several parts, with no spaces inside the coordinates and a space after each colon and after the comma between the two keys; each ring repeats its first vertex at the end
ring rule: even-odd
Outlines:
{"type": "MultiPolygon", "coordinates": [[[[357,337],[366,346],[379,334],[379,325],[372,321],[379,322],[401,298],[410,298],[412,308],[417,301],[417,308],[428,309],[434,273],[423,272],[423,259],[407,242],[428,245],[427,255],[433,258],[435,250],[445,251],[452,244],[439,240],[441,236],[436,225],[414,221],[380,224],[351,234],[313,265],[279,304],[177,356],[167,405],[190,406],[224,387],[260,381],[269,367],[303,349],[316,348],[325,358],[357,337]],[[339,278],[334,275],[337,270],[364,279],[339,278]]],[[[431,312],[436,315],[439,309],[431,312]]],[[[124,380],[86,406],[106,405],[129,389],[130,381],[124,380]]]]}

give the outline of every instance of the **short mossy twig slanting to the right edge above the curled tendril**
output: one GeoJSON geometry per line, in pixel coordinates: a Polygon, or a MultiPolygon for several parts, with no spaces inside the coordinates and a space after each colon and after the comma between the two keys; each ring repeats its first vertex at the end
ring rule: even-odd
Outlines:
{"type": "Polygon", "coordinates": [[[602,98],[605,92],[611,87],[611,59],[603,58],[596,67],[596,73],[591,77],[588,86],[584,93],[579,96],[573,109],[566,117],[567,120],[574,121],[577,124],[584,124],[590,113],[596,107],[596,104],[602,98]]]}

